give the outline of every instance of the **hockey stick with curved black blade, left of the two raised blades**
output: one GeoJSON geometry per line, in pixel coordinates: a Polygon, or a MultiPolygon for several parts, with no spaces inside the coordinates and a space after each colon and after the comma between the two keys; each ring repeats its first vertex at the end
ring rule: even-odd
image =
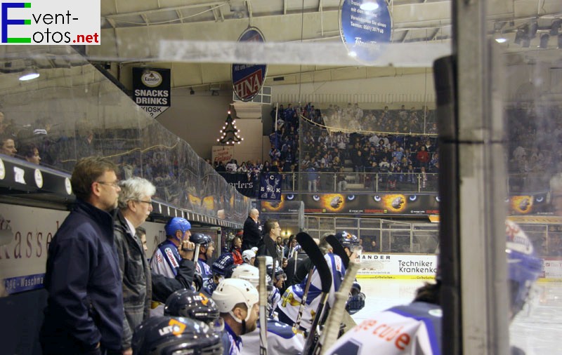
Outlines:
{"type": "Polygon", "coordinates": [[[332,287],[332,273],[329,271],[328,264],[322,255],[322,251],[318,248],[315,241],[312,239],[311,236],[304,232],[300,232],[296,234],[296,241],[299,242],[301,247],[308,257],[311,258],[316,270],[318,271],[318,276],[320,276],[320,283],[322,283],[322,293],[320,294],[320,303],[318,304],[318,308],[316,309],[316,314],[314,315],[314,319],[312,321],[311,330],[306,337],[306,342],[304,343],[303,347],[303,354],[310,354],[311,347],[316,335],[316,327],[318,326],[318,322],[322,317],[322,312],[324,311],[324,305],[327,302],[329,296],[329,290],[332,287]]]}

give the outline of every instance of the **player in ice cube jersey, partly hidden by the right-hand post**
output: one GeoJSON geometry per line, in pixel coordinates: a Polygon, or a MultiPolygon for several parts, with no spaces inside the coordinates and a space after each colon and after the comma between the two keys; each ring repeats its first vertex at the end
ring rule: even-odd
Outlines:
{"type": "MultiPolygon", "coordinates": [[[[542,272],[542,260],[523,230],[507,220],[506,253],[511,319],[528,300],[530,288],[542,272]]],[[[441,283],[426,283],[417,290],[414,302],[392,307],[362,321],[330,348],[329,355],[441,354],[441,283]]],[[[513,348],[511,354],[522,354],[513,348]]]]}

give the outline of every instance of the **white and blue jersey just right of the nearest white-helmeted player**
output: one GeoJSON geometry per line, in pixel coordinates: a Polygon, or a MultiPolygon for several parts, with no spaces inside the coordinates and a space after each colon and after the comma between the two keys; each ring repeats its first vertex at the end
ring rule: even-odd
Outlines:
{"type": "MultiPolygon", "coordinates": [[[[242,335],[242,340],[242,354],[259,354],[259,322],[256,330],[242,335]]],[[[268,355],[302,354],[304,342],[303,335],[294,333],[292,326],[268,319],[268,355]]]]}

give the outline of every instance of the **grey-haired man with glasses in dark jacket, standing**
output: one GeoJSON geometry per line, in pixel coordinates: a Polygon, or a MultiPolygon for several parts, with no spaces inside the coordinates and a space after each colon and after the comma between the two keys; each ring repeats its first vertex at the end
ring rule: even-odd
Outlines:
{"type": "Polygon", "coordinates": [[[150,265],[136,228],[152,211],[152,196],[156,188],[143,178],[129,178],[119,182],[117,216],[115,217],[115,245],[119,269],[123,279],[123,354],[133,354],[131,340],[136,326],[150,316],[152,284],[150,265]]]}

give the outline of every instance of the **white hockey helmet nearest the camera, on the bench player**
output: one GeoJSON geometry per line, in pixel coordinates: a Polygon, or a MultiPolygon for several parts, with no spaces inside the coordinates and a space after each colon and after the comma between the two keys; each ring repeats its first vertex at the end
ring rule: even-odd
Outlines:
{"type": "Polygon", "coordinates": [[[218,311],[229,313],[233,319],[239,321],[233,314],[236,304],[244,303],[248,307],[246,319],[248,321],[251,314],[251,307],[259,301],[258,290],[248,281],[242,279],[224,279],[213,292],[213,300],[216,302],[218,311]]]}

